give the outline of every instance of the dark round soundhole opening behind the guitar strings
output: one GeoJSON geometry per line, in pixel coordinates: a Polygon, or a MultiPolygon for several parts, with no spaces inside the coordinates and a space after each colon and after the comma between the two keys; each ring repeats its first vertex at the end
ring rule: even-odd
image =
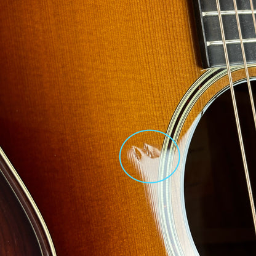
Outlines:
{"type": "MultiPolygon", "coordinates": [[[[252,81],[254,98],[256,82],[252,81]]],[[[256,132],[247,84],[235,86],[242,135],[256,198],[256,132]]],[[[196,127],[185,168],[185,206],[200,255],[255,255],[256,239],[230,90],[196,127]]]]}

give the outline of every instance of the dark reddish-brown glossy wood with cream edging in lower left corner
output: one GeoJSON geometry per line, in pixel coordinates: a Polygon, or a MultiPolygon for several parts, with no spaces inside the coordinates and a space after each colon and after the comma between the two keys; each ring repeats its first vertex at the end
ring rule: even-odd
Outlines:
{"type": "Polygon", "coordinates": [[[1,148],[0,188],[1,255],[55,256],[41,214],[1,148]]]}

